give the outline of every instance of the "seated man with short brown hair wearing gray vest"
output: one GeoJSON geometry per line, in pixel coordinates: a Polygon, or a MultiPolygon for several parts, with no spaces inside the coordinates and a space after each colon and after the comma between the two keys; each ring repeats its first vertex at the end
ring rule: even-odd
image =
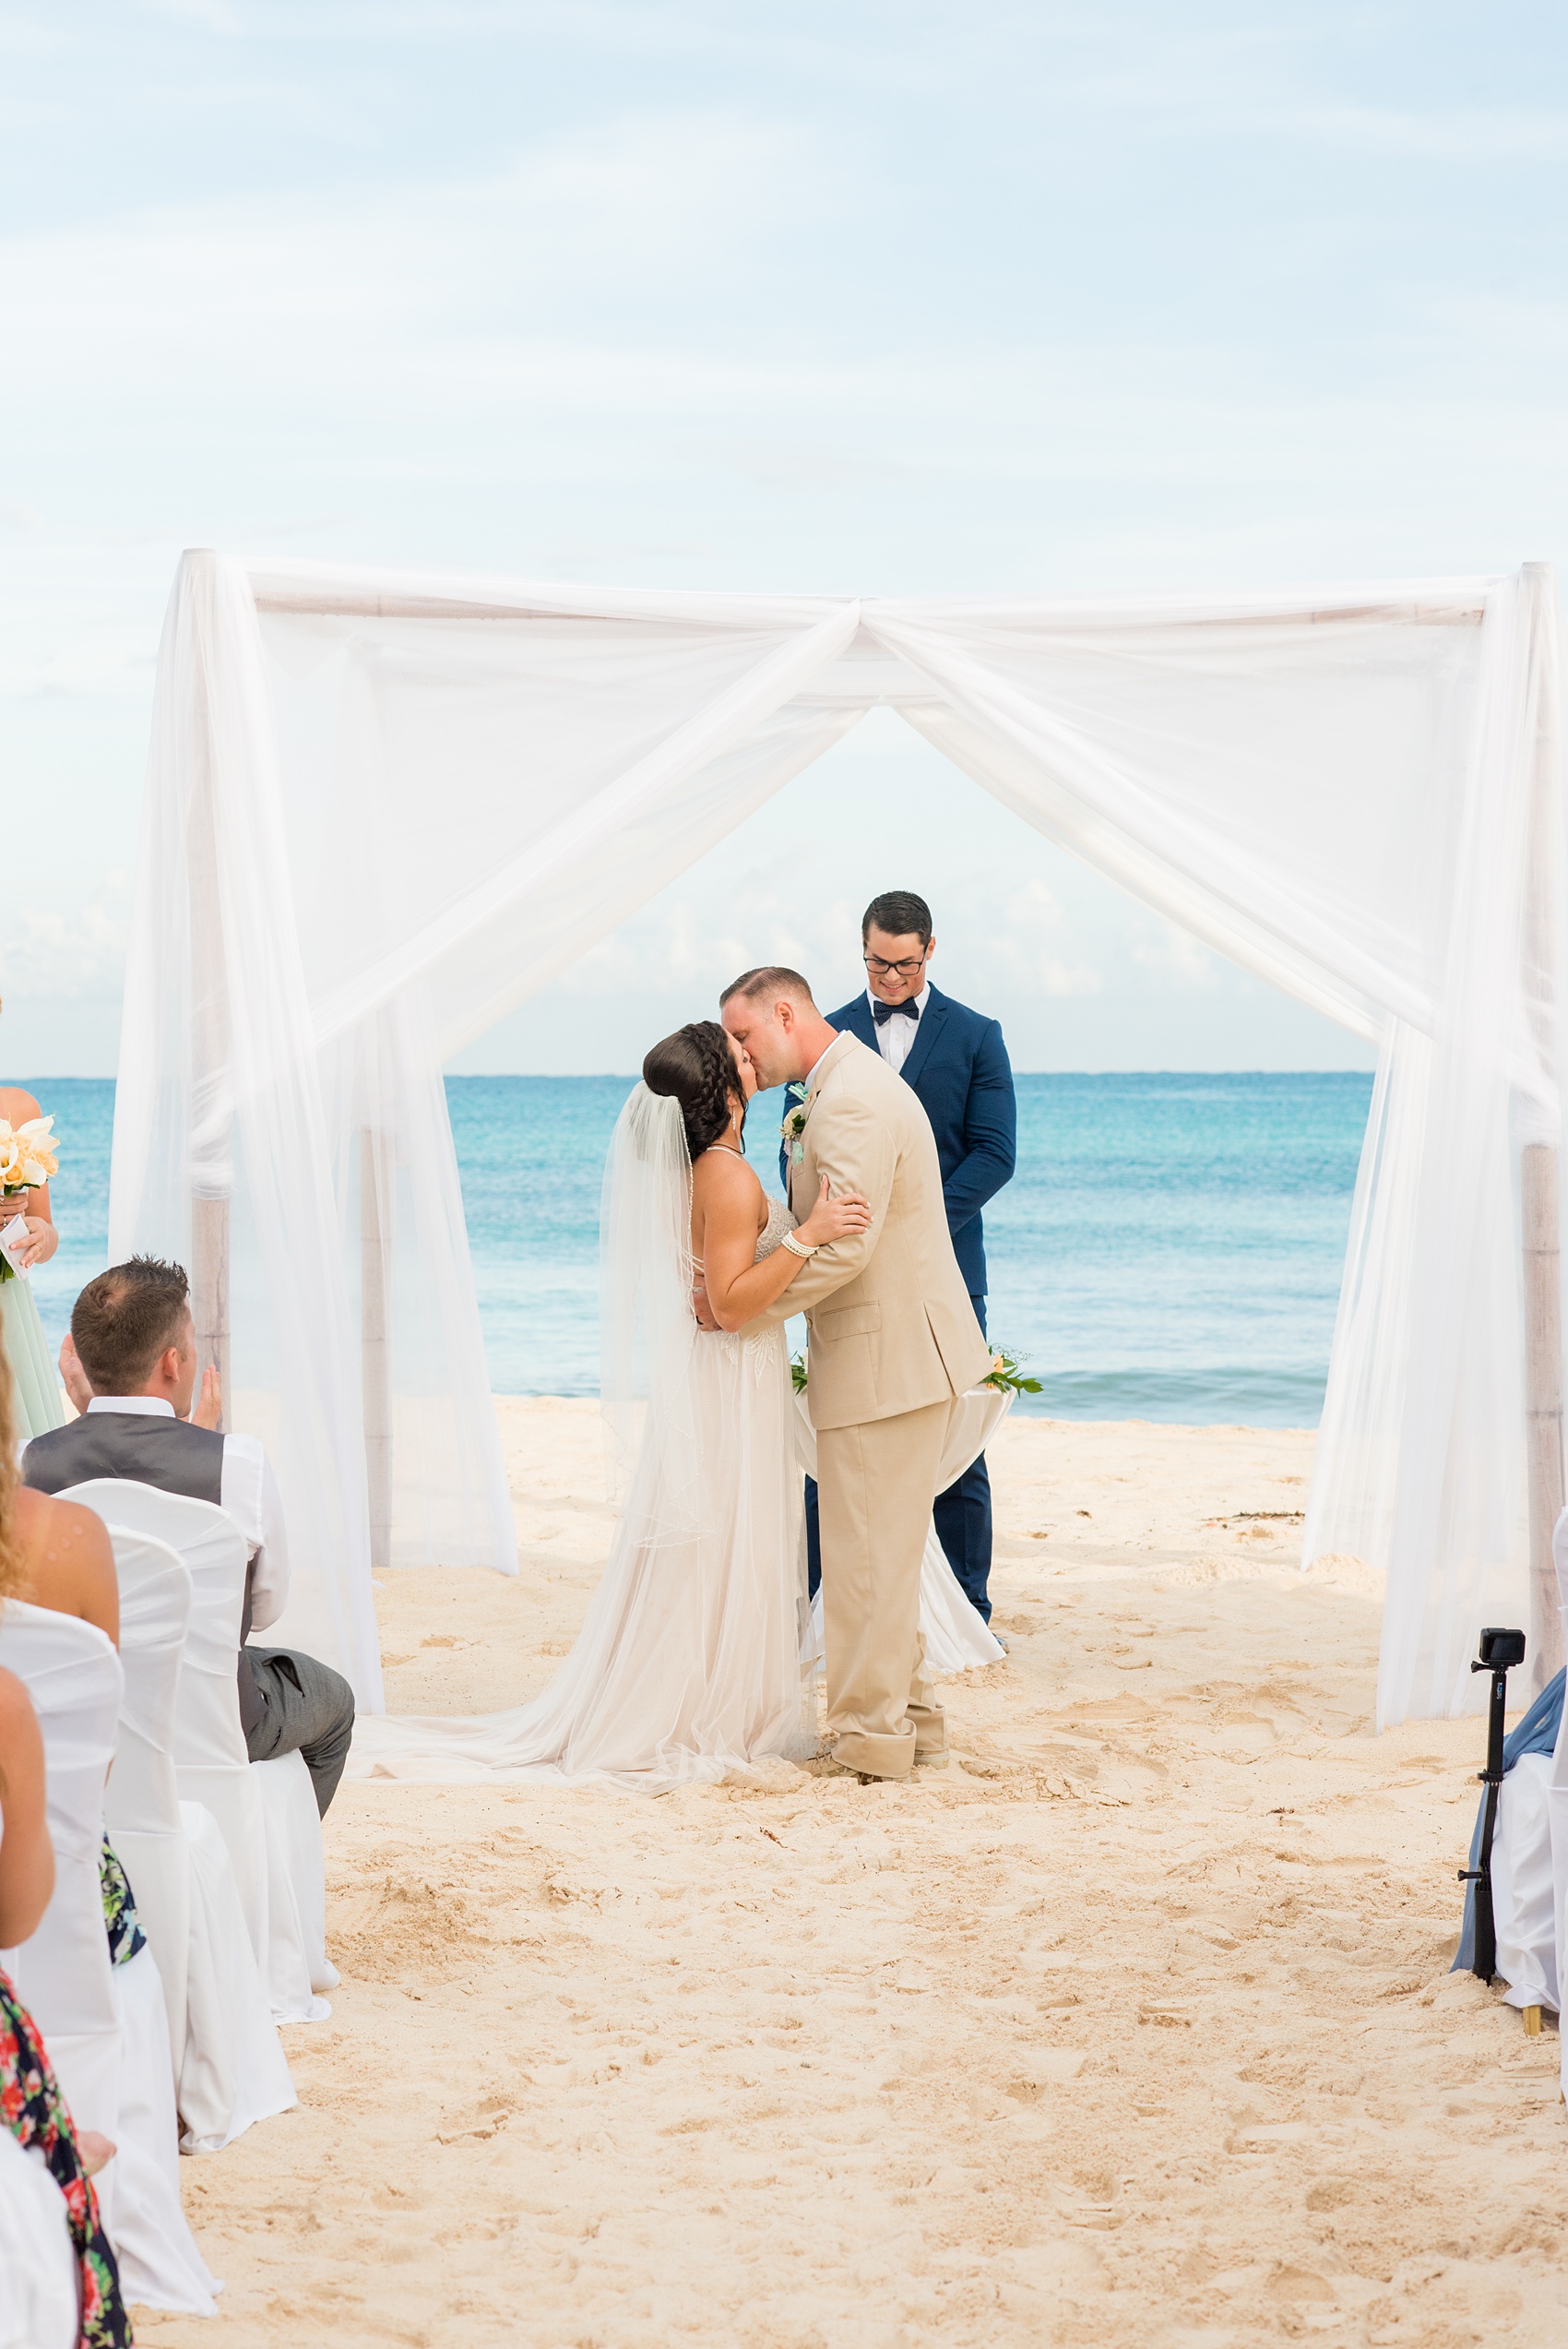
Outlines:
{"type": "Polygon", "coordinates": [[[35,1435],[21,1475],[35,1492],[89,1478],[131,1478],[160,1492],[214,1501],[251,1550],[239,1628],[239,1719],[251,1762],[300,1752],[317,1809],[338,1790],[354,1734],[354,1691],[340,1672],[293,1647],[249,1647],[289,1600],[284,1513],[268,1454],[254,1435],[192,1426],[195,1325],[178,1264],[131,1257],[89,1280],[70,1311],[82,1372],[82,1416],[35,1435]]]}

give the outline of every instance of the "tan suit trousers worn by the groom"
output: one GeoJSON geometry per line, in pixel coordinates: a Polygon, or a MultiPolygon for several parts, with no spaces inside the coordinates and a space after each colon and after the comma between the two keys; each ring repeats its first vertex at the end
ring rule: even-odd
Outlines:
{"type": "Polygon", "coordinates": [[[951,1402],[817,1431],[822,1628],[833,1759],[908,1778],[915,1752],[946,1748],[925,1675],[920,1557],[951,1402]]]}

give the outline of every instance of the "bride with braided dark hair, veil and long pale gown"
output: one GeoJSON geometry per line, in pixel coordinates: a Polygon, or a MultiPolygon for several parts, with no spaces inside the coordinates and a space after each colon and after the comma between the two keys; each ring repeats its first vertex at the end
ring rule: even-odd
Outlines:
{"type": "Polygon", "coordinates": [[[824,1182],[796,1231],[742,1156],[753,1092],[739,1045],[697,1019],[653,1048],[615,1125],[601,1407],[624,1503],[577,1644],[512,1712],[361,1715],[350,1776],[660,1792],[815,1745],[789,1355],[782,1327],[746,1322],[871,1210],[824,1182]],[[697,1278],[721,1334],[697,1327],[697,1278]]]}

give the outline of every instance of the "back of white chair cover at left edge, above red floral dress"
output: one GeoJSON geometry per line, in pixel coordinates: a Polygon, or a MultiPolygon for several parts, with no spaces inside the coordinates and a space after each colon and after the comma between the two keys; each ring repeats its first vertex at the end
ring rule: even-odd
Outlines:
{"type": "MultiPolygon", "coordinates": [[[[0,1964],[45,2034],[75,2126],[120,2142],[120,2011],[99,1889],[120,1658],[94,1623],[7,1600],[0,1609],[0,1665],[26,1682],[38,1712],[54,1844],[49,1907],[31,1940],[0,1964]]],[[[99,2210],[113,2241],[113,2161],[99,2178],[99,2210]]]]}

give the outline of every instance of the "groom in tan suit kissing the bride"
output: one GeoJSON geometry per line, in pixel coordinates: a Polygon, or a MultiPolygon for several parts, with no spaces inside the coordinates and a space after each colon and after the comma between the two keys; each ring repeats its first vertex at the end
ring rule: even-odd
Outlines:
{"type": "Polygon", "coordinates": [[[937,1463],[958,1395],[991,1369],[941,1198],[932,1123],[911,1088],[857,1036],[831,1029],[798,970],[749,970],[718,1003],[758,1085],[805,1083],[791,1113],[789,1193],[798,1219],[826,1174],[859,1191],[871,1229],[812,1252],[758,1313],[805,1313],[822,1510],[822,1618],[833,1759],[908,1778],[946,1750],[925,1677],[920,1557],[937,1463]]]}

